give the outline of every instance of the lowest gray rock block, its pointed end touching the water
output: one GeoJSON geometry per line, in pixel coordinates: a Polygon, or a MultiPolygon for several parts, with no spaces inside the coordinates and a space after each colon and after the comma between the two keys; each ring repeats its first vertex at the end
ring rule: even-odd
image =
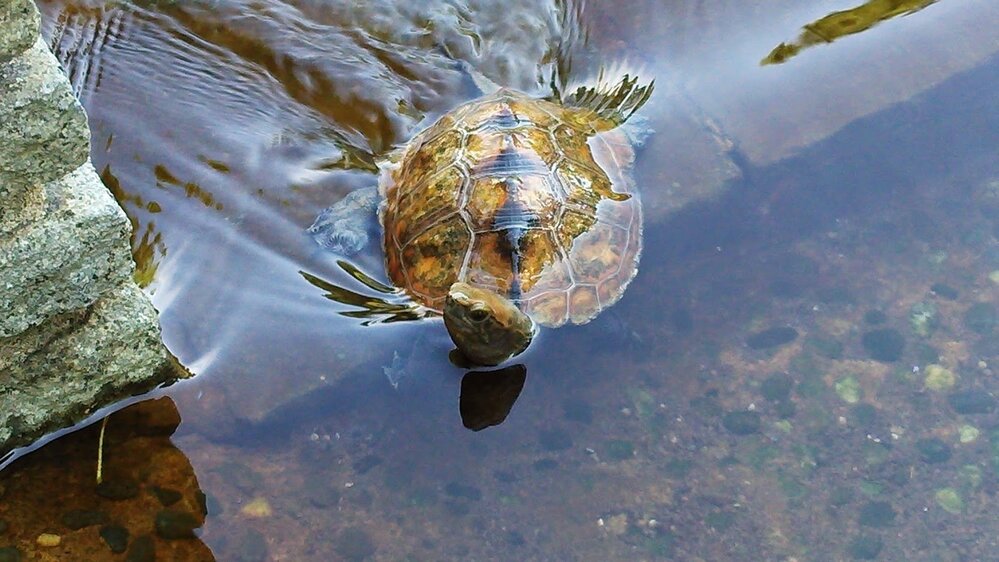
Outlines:
{"type": "Polygon", "coordinates": [[[0,338],[0,456],[176,377],[156,311],[134,284],[0,338]]]}

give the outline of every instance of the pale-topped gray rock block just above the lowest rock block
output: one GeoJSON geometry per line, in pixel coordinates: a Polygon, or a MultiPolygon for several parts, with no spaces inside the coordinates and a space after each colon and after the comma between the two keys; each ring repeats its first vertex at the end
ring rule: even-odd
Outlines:
{"type": "Polygon", "coordinates": [[[89,163],[46,198],[44,220],[0,239],[0,338],[88,306],[134,269],[128,219],[89,163]]]}

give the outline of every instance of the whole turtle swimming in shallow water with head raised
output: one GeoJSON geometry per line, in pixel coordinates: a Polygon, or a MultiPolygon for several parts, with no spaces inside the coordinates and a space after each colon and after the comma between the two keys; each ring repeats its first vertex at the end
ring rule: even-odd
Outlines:
{"type": "Polygon", "coordinates": [[[350,256],[377,213],[391,283],[443,316],[468,362],[498,365],[539,326],[589,322],[637,273],[642,209],[622,125],[653,88],[629,74],[565,97],[497,87],[396,149],[377,186],[308,232],[350,256]]]}

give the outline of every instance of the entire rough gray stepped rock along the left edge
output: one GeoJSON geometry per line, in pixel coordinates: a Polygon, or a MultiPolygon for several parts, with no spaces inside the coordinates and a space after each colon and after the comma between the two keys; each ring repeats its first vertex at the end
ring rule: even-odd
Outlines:
{"type": "Polygon", "coordinates": [[[30,0],[0,0],[0,457],[178,376],[30,0]]]}

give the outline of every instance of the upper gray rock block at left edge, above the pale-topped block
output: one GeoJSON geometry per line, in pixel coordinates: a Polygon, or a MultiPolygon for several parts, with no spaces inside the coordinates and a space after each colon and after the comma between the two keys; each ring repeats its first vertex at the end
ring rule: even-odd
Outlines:
{"type": "Polygon", "coordinates": [[[87,160],[83,109],[41,38],[0,65],[0,200],[62,177],[87,160]]]}

